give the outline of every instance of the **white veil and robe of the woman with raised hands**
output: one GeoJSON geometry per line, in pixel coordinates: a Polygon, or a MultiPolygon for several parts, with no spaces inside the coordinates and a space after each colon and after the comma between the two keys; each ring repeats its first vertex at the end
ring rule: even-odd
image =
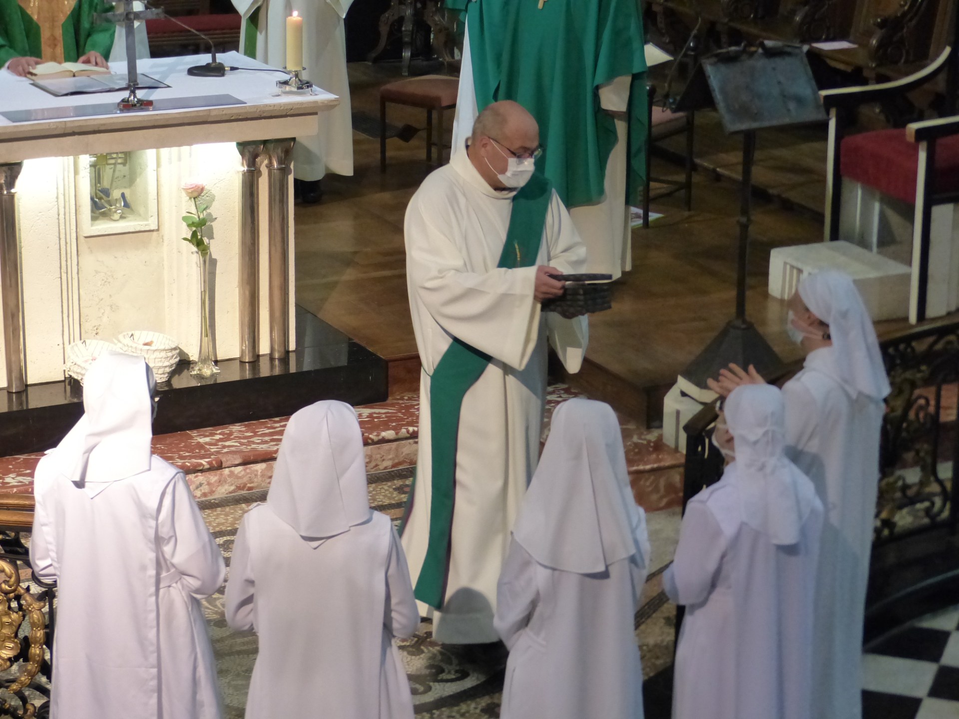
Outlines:
{"type": "Polygon", "coordinates": [[[786,443],[826,507],[816,594],[813,715],[858,719],[862,627],[889,382],[876,332],[853,281],[808,275],[800,296],[830,325],[832,346],[810,352],[783,387],[786,443]]]}

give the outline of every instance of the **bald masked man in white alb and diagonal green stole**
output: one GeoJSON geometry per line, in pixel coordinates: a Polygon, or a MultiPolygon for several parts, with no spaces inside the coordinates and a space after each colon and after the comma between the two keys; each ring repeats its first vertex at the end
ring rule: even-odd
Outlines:
{"type": "Polygon", "coordinates": [[[407,285],[420,375],[419,453],[403,546],[420,612],[450,643],[497,641],[496,585],[536,466],[547,346],[571,372],[585,317],[541,312],[550,277],[586,252],[549,181],[534,174],[536,121],[504,101],[467,151],[409,201],[407,285]]]}

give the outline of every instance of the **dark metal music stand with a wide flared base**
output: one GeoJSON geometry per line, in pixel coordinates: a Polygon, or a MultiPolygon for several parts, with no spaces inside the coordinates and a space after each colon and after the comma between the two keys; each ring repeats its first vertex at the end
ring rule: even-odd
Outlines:
{"type": "Polygon", "coordinates": [[[746,260],[756,132],[826,122],[827,117],[819,102],[819,89],[804,48],[774,42],[730,48],[703,58],[682,95],[670,105],[675,112],[714,107],[727,134],[742,133],[736,317],[690,362],[679,378],[683,391],[696,400],[708,401],[712,393],[706,381],[715,378],[730,362],[740,367],[754,364],[765,376],[783,365],[756,326],[746,319],[746,260]]]}

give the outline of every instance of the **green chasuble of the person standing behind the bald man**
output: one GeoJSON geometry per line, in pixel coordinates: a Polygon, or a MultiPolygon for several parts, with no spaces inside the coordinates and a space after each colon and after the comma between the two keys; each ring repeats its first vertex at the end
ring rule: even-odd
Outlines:
{"type": "Polygon", "coordinates": [[[631,76],[626,201],[637,204],[648,124],[643,17],[637,0],[447,0],[466,11],[477,107],[515,100],[540,127],[537,165],[567,207],[604,195],[617,142],[598,88],[631,76]]]}

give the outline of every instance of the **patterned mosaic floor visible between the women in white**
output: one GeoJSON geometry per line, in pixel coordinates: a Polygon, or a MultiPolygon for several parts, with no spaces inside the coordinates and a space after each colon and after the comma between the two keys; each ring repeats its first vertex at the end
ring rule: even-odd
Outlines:
{"type": "MultiPolygon", "coordinates": [[[[370,504],[398,521],[409,492],[412,470],[391,470],[369,476],[370,504]]],[[[266,491],[233,497],[204,499],[199,505],[229,565],[237,526],[249,506],[266,491]]],[[[672,661],[672,607],[662,592],[661,574],[672,557],[679,528],[679,510],[649,515],[653,563],[636,615],[637,640],[643,654],[645,677],[659,673],[672,661]]],[[[256,637],[234,632],[223,618],[222,588],[204,603],[223,692],[224,719],[242,719],[246,689],[256,660],[256,637]]],[[[451,646],[433,641],[431,625],[423,622],[412,638],[399,642],[413,692],[416,714],[431,719],[481,719],[500,715],[503,669],[502,646],[451,646]]]]}

